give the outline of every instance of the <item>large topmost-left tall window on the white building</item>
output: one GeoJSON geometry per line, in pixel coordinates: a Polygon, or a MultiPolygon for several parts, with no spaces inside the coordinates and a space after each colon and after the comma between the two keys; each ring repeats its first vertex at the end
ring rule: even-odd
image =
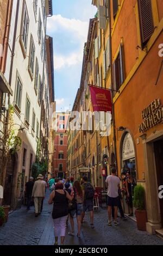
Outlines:
{"type": "Polygon", "coordinates": [[[27,12],[27,6],[25,3],[24,4],[22,33],[21,33],[25,52],[27,51],[28,29],[29,29],[29,17],[28,17],[28,12],[27,12]]]}

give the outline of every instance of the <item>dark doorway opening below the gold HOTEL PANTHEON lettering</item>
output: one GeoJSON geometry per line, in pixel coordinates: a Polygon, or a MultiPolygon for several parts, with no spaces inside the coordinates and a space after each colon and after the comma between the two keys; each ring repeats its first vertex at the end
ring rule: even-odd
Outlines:
{"type": "MultiPolygon", "coordinates": [[[[154,142],[156,175],[158,179],[158,187],[163,185],[163,139],[154,142]]],[[[163,199],[159,199],[161,225],[163,228],[163,199]]]]}

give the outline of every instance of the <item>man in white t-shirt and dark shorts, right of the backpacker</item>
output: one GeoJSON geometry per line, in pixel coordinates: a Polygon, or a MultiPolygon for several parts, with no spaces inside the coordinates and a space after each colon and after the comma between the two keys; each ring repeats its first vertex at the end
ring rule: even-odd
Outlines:
{"type": "Polygon", "coordinates": [[[114,224],[117,225],[117,213],[118,213],[118,188],[120,188],[120,179],[116,176],[116,169],[111,169],[111,175],[106,178],[106,187],[108,187],[108,225],[111,225],[111,209],[114,207],[115,220],[114,224]]]}

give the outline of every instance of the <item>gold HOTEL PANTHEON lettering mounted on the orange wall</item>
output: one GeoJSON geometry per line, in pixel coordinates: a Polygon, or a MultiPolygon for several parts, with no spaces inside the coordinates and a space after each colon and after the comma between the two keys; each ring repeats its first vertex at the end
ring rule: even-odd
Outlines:
{"type": "Polygon", "coordinates": [[[139,132],[145,132],[163,120],[163,107],[160,100],[154,100],[142,111],[143,122],[139,125],[139,132]]]}

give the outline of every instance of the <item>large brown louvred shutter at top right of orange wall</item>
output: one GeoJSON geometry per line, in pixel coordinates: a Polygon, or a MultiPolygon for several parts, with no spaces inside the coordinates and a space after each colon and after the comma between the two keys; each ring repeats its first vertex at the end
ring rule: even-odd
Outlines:
{"type": "Polygon", "coordinates": [[[154,32],[151,0],[138,0],[142,46],[154,32]]]}

